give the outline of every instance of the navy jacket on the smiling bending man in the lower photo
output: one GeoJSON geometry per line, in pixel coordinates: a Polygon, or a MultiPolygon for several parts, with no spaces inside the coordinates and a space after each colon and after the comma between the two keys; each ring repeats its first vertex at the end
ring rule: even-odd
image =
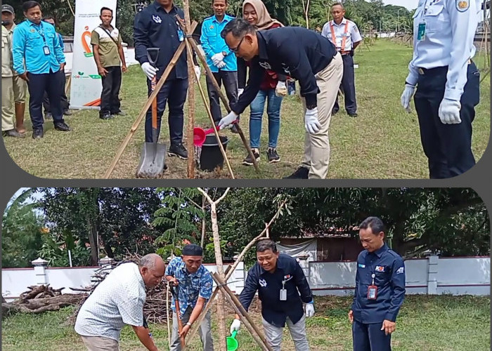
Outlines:
{"type": "Polygon", "coordinates": [[[258,263],[247,272],[245,288],[239,297],[242,307],[247,310],[258,291],[261,300],[261,315],[269,324],[285,326],[290,318],[296,324],[302,318],[302,303],[311,303],[313,296],[301,266],[295,258],[280,253],[275,272],[264,270],[258,263]],[[280,301],[280,290],[285,280],[287,300],[280,301]]]}

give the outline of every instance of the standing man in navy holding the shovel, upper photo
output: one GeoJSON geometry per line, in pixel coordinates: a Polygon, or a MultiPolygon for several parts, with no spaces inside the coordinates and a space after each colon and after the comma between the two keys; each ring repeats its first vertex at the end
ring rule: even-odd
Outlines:
{"type": "MultiPolygon", "coordinates": [[[[173,0],[155,0],[153,4],[135,16],[135,58],[140,62],[143,72],[148,77],[148,95],[151,93],[151,79],[155,74],[157,74],[157,80],[162,77],[162,73],[171,62],[179,44],[184,40],[184,33],[178,25],[176,15],[184,18],[183,10],[174,6],[173,0]],[[148,62],[147,48],[160,48],[157,67],[153,67],[148,62]]],[[[200,66],[195,66],[195,72],[200,74],[200,66]]],[[[162,114],[164,114],[167,102],[171,139],[169,156],[177,156],[181,159],[188,158],[188,151],[183,145],[183,105],[187,91],[188,64],[185,50],[157,94],[157,135],[160,133],[162,114]]],[[[145,116],[145,142],[153,142],[151,108],[145,116]]]]}

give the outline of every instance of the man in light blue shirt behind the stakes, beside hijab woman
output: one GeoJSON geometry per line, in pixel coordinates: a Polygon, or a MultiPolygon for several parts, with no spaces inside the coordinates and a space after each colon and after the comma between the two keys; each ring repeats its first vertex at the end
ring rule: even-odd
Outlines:
{"type": "MultiPolygon", "coordinates": [[[[229,105],[238,101],[238,61],[235,54],[228,48],[226,41],[221,37],[221,31],[233,17],[226,14],[227,0],[214,0],[212,4],[214,15],[202,23],[200,41],[205,51],[207,65],[212,70],[215,80],[221,86],[224,83],[229,105]]],[[[207,76],[207,91],[209,94],[210,110],[214,121],[222,117],[219,105],[219,93],[207,76]]]]}

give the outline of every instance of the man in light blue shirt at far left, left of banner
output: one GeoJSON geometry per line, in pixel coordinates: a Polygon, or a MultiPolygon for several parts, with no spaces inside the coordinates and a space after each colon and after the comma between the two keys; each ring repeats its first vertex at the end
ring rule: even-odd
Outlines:
{"type": "Polygon", "coordinates": [[[41,21],[41,5],[37,1],[22,4],[25,20],[13,32],[13,68],[19,77],[27,81],[29,88],[29,113],[32,121],[32,138],[42,138],[43,114],[41,111],[44,91],[48,93],[57,131],[70,131],[63,120],[60,107],[65,74],[65,56],[53,25],[41,21]],[[25,62],[25,67],[24,67],[25,62]]]}

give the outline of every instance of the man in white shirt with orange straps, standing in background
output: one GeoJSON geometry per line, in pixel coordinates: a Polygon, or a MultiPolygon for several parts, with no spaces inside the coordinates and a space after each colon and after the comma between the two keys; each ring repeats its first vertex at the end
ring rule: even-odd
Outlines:
{"type": "MultiPolygon", "coordinates": [[[[332,5],[331,10],[333,20],[323,25],[321,35],[327,37],[342,55],[344,61],[344,75],[342,77],[342,88],[345,98],[345,110],[350,117],[357,117],[356,84],[354,79],[354,51],[358,44],[362,42],[361,32],[357,25],[351,20],[344,18],[345,8],[341,3],[332,5]]],[[[339,110],[338,98],[332,114],[339,110]]]]}

